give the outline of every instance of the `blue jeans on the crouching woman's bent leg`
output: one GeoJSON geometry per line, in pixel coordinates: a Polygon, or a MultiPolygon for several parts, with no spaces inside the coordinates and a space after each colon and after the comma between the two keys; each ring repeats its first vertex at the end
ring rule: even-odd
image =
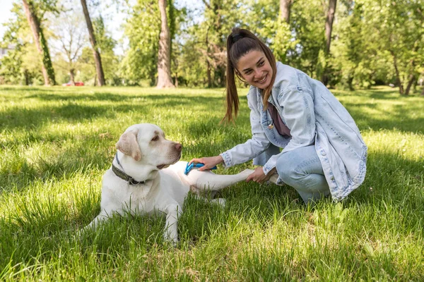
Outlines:
{"type": "Polygon", "coordinates": [[[295,188],[305,203],[330,194],[314,145],[282,154],[276,168],[281,180],[295,188]]]}

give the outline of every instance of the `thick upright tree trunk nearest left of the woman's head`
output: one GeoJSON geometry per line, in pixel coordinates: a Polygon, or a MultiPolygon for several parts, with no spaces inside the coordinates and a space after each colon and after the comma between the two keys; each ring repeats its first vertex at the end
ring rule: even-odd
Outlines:
{"type": "Polygon", "coordinates": [[[158,88],[175,87],[171,78],[171,37],[167,25],[166,0],[159,1],[160,25],[159,52],[158,52],[158,88]]]}

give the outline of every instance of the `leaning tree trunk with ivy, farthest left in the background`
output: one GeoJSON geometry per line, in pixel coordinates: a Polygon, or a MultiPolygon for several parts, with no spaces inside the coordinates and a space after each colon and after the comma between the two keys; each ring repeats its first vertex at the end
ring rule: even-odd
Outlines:
{"type": "Polygon", "coordinates": [[[40,27],[40,20],[35,14],[32,1],[23,0],[23,8],[31,30],[33,31],[35,45],[41,56],[41,71],[45,80],[45,85],[55,85],[56,80],[54,79],[54,69],[52,66],[52,59],[50,59],[49,47],[47,47],[47,41],[40,27]]]}

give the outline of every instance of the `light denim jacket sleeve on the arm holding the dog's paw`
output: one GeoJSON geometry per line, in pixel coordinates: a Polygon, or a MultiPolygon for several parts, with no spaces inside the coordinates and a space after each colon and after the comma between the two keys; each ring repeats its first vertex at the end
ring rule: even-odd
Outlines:
{"type": "Polygon", "coordinates": [[[315,114],[312,90],[298,86],[288,87],[278,94],[278,105],[282,108],[285,125],[290,128],[292,138],[280,154],[273,155],[264,166],[264,173],[268,174],[276,166],[281,154],[307,147],[315,139],[315,114]]]}

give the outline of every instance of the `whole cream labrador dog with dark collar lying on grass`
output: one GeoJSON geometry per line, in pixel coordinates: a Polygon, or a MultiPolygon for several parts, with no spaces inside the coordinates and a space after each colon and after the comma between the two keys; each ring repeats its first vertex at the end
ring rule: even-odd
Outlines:
{"type": "MultiPolygon", "coordinates": [[[[95,228],[112,214],[166,214],[165,240],[178,240],[177,221],[189,191],[217,192],[246,180],[253,171],[218,175],[193,169],[184,174],[187,161],[179,161],[182,145],[165,139],[157,125],[131,125],[117,142],[112,167],[102,179],[100,214],[86,228],[95,228]]],[[[220,202],[220,200],[218,200],[220,202]]],[[[86,229],[85,228],[85,229],[86,229]]]]}

